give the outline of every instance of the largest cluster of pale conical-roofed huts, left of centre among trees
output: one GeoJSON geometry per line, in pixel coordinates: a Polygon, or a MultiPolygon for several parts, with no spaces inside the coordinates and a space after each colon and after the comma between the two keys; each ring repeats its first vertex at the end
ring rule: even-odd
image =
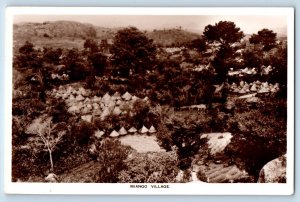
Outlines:
{"type": "Polygon", "coordinates": [[[112,96],[106,93],[104,96],[91,97],[91,91],[82,87],[74,88],[72,86],[59,87],[54,89],[52,94],[56,98],[65,100],[68,112],[81,115],[85,121],[91,122],[93,117],[100,117],[105,120],[109,115],[122,115],[133,109],[133,104],[137,100],[149,102],[148,97],[143,99],[131,95],[129,92],[121,95],[115,92],[112,96]]]}

